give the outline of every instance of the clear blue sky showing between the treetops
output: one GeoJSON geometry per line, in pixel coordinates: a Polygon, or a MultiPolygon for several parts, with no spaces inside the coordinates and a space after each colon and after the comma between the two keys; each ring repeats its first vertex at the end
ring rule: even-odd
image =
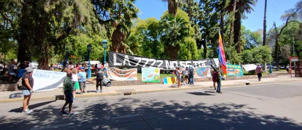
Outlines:
{"type": "MultiPolygon", "coordinates": [[[[273,22],[276,22],[277,26],[280,26],[284,21],[280,19],[284,11],[294,8],[294,5],[299,0],[267,0],[266,10],[266,25],[269,30],[273,22]]],[[[168,10],[168,3],[164,3],[161,0],[137,0],[135,5],[140,8],[141,13],[139,18],[146,19],[154,17],[160,19],[162,14],[168,10]]],[[[257,29],[263,29],[263,16],[264,16],[264,0],[258,0],[254,8],[254,12],[246,15],[248,18],[242,20],[242,24],[246,26],[246,29],[256,31],[257,29]]]]}

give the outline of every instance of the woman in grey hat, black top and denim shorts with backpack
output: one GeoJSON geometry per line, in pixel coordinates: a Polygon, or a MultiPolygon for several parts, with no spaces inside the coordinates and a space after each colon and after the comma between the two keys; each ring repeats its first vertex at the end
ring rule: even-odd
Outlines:
{"type": "Polygon", "coordinates": [[[34,78],[32,77],[33,72],[34,72],[33,68],[27,67],[25,68],[25,73],[22,77],[22,84],[23,84],[22,94],[24,96],[22,113],[33,112],[32,110],[28,109],[28,104],[31,99],[31,94],[34,92],[33,90],[34,78]]]}

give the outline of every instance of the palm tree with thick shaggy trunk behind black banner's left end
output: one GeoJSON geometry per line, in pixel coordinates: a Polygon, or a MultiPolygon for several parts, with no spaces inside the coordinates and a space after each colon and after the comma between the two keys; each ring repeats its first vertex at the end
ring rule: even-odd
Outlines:
{"type": "Polygon", "coordinates": [[[134,18],[137,18],[137,13],[140,11],[134,5],[135,0],[115,0],[114,8],[109,9],[109,15],[111,16],[110,23],[114,28],[112,34],[112,46],[111,51],[127,53],[125,49],[125,38],[129,33],[129,29],[132,28],[134,18]]]}

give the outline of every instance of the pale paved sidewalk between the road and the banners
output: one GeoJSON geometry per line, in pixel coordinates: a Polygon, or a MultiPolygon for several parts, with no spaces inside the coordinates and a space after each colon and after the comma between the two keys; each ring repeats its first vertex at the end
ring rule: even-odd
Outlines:
{"type": "MultiPolygon", "coordinates": [[[[261,81],[258,79],[246,79],[246,80],[226,80],[222,81],[222,91],[223,87],[226,86],[240,86],[246,85],[249,83],[250,85],[254,84],[264,84],[264,83],[278,83],[278,82],[291,82],[291,81],[300,81],[302,78],[291,78],[290,76],[278,76],[275,78],[263,78],[261,81]]],[[[154,93],[154,92],[165,92],[165,91],[177,91],[177,90],[189,90],[189,89],[201,89],[201,88],[213,88],[213,82],[196,82],[194,85],[185,85],[182,88],[177,88],[176,84],[148,84],[148,85],[131,85],[131,86],[103,86],[103,93],[95,93],[95,85],[87,84],[85,91],[87,93],[79,94],[79,90],[77,90],[76,98],[84,98],[84,97],[96,97],[96,96],[118,96],[124,95],[124,93],[131,94],[141,94],[141,93],[154,93]]],[[[18,102],[22,101],[23,97],[9,99],[9,95],[12,93],[21,93],[18,91],[5,91],[0,92],[0,103],[3,102],[18,102]]],[[[62,99],[63,93],[62,88],[54,89],[46,92],[36,92],[33,93],[31,100],[56,100],[62,99]]]]}

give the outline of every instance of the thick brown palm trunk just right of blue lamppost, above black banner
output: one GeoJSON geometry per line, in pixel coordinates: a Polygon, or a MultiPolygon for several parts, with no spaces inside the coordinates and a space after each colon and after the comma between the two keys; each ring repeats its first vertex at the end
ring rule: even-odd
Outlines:
{"type": "Polygon", "coordinates": [[[115,29],[112,34],[112,46],[110,47],[110,50],[113,52],[124,53],[125,47],[122,45],[122,43],[125,38],[126,36],[123,33],[115,29]]]}

